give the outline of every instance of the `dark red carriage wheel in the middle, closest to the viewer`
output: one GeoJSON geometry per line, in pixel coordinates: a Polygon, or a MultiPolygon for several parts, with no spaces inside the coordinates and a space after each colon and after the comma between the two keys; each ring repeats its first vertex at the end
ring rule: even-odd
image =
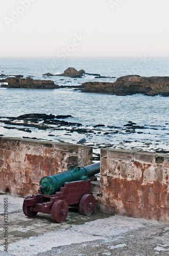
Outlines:
{"type": "Polygon", "coordinates": [[[69,209],[67,202],[63,200],[57,200],[51,207],[51,218],[55,222],[62,223],[66,220],[68,211],[69,209]]]}

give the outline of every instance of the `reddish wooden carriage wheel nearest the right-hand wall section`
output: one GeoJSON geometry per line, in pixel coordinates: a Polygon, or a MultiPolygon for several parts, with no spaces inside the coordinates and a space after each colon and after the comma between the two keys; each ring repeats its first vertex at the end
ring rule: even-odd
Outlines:
{"type": "Polygon", "coordinates": [[[79,210],[81,214],[91,215],[96,206],[94,196],[86,194],[80,199],[79,210]]]}

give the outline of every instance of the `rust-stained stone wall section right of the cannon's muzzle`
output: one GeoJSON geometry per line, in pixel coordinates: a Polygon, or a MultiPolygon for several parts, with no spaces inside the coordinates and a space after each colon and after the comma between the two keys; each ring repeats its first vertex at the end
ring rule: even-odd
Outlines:
{"type": "Polygon", "coordinates": [[[129,217],[169,221],[169,155],[101,149],[98,209],[129,217]]]}

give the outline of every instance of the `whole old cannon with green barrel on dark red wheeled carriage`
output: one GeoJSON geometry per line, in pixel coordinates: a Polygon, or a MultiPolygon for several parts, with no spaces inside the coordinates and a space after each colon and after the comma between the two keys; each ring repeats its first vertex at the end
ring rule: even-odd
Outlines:
{"type": "Polygon", "coordinates": [[[70,166],[67,171],[45,176],[40,180],[38,194],[23,201],[23,213],[34,217],[38,212],[50,214],[53,221],[62,223],[68,215],[68,206],[78,205],[81,214],[91,215],[95,198],[90,194],[89,177],[100,172],[100,162],[85,167],[70,166]]]}

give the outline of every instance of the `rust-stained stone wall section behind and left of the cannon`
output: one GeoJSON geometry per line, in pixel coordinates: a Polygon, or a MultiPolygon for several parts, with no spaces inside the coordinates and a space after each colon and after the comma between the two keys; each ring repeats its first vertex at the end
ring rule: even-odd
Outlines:
{"type": "Polygon", "coordinates": [[[0,190],[21,196],[38,192],[43,176],[70,165],[92,163],[92,147],[31,139],[0,138],[0,190]]]}

